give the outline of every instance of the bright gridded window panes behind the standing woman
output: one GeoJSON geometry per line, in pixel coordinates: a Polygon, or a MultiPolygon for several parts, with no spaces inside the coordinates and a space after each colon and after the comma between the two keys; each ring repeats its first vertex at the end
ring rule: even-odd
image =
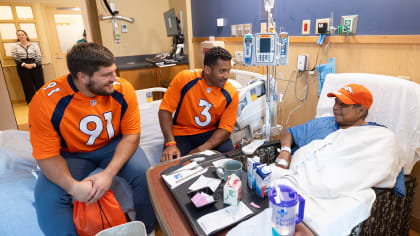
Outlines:
{"type": "Polygon", "coordinates": [[[37,22],[32,5],[25,3],[0,3],[0,55],[12,59],[11,49],[16,43],[16,30],[22,29],[31,42],[39,45],[37,22]]]}

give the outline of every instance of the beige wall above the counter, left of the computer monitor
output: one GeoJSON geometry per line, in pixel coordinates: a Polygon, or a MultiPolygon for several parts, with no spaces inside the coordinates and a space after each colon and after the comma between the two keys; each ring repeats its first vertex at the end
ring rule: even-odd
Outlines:
{"type": "MultiPolygon", "coordinates": [[[[102,0],[96,0],[99,15],[110,15],[102,0]]],[[[119,21],[128,25],[128,33],[121,33],[121,43],[115,44],[110,20],[100,20],[103,45],[115,56],[132,56],[170,52],[172,37],[166,36],[163,13],[169,10],[168,0],[115,0],[119,15],[133,17],[134,23],[119,21]]]]}

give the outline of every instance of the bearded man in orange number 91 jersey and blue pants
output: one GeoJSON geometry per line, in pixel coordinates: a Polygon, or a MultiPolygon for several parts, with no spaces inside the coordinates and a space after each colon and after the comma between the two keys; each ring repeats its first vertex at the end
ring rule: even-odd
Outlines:
{"type": "Polygon", "coordinates": [[[31,101],[30,139],[42,170],[35,205],[45,235],[77,235],[72,200],[98,201],[116,175],[133,189],[136,220],[148,233],[154,229],[137,98],[130,83],[116,77],[114,62],[101,45],[76,44],[67,53],[70,74],[43,86],[31,101]],[[97,167],[103,170],[88,176],[97,167]]]}

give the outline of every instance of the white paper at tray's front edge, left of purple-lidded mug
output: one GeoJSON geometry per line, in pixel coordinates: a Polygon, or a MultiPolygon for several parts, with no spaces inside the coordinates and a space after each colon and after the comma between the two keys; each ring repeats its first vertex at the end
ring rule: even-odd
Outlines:
{"type": "Polygon", "coordinates": [[[211,232],[233,224],[250,214],[252,214],[252,211],[243,202],[240,202],[238,206],[229,206],[204,215],[197,219],[197,223],[204,233],[208,235],[211,232]]]}

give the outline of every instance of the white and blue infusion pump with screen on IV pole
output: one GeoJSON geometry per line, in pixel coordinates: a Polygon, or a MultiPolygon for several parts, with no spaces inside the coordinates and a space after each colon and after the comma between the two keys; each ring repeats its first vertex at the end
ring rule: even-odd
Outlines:
{"type": "Polygon", "coordinates": [[[287,65],[289,35],[287,32],[246,34],[243,42],[243,63],[247,66],[287,65]]]}

